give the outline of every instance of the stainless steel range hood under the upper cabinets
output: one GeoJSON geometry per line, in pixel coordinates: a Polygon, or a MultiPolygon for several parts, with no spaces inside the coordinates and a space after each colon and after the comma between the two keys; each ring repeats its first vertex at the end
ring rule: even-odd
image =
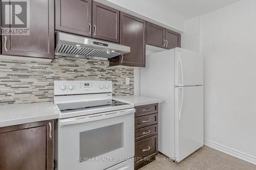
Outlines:
{"type": "Polygon", "coordinates": [[[55,32],[55,55],[71,57],[100,57],[105,60],[130,53],[130,47],[92,38],[55,32]]]}

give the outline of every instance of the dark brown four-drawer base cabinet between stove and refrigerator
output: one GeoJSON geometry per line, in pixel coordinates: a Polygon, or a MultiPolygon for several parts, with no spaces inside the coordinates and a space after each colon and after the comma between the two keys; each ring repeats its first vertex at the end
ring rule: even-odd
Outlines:
{"type": "Polygon", "coordinates": [[[158,155],[158,104],[137,106],[135,109],[136,170],[154,161],[158,155]]]}

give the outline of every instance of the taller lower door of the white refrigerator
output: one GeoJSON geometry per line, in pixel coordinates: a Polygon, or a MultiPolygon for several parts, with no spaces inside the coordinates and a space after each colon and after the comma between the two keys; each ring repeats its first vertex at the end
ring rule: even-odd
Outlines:
{"type": "Polygon", "coordinates": [[[203,146],[203,86],[175,88],[175,157],[180,162],[203,146]]]}

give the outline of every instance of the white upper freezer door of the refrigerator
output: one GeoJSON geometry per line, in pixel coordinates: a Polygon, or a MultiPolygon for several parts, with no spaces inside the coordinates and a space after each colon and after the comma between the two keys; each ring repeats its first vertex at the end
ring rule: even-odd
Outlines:
{"type": "Polygon", "coordinates": [[[175,48],[175,86],[203,85],[203,55],[175,48]]]}

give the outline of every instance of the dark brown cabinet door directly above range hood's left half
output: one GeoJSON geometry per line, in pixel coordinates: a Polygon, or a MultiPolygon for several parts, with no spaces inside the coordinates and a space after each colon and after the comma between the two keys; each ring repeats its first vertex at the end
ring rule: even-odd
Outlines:
{"type": "Polygon", "coordinates": [[[55,29],[92,37],[92,0],[55,0],[55,29]]]}

